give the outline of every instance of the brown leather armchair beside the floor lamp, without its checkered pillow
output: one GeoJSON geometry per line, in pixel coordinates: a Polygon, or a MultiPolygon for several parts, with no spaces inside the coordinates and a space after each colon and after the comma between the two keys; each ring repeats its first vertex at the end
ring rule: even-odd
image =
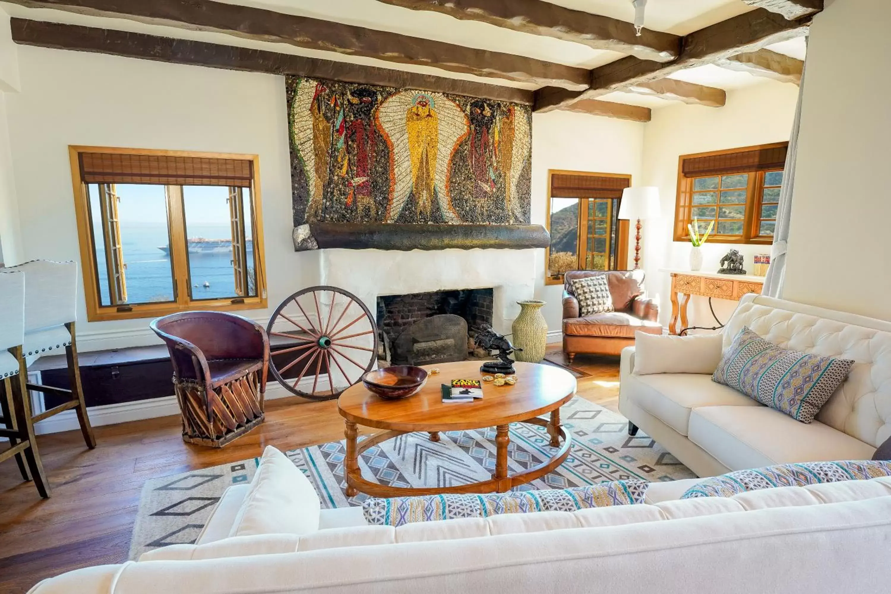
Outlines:
{"type": "Polygon", "coordinates": [[[563,276],[563,352],[568,362],[576,353],[620,354],[634,345],[634,332],[662,334],[659,307],[644,296],[642,270],[570,270],[563,276]],[[573,279],[605,274],[615,312],[580,317],[573,279]]]}

